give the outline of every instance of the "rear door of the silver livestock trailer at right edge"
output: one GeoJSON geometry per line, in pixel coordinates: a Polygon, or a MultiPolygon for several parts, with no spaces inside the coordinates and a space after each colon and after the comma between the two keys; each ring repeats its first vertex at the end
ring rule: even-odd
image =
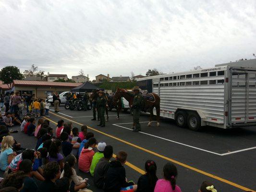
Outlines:
{"type": "Polygon", "coordinates": [[[256,70],[231,69],[229,124],[256,122],[256,70]]]}

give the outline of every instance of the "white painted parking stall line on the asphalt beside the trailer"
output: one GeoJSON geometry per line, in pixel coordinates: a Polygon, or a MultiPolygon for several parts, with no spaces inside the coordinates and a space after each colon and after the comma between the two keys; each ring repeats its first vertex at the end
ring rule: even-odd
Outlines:
{"type": "MultiPolygon", "coordinates": [[[[149,121],[142,121],[140,123],[146,123],[146,122],[149,122],[149,121]]],[[[155,122],[155,121],[152,121],[152,122],[155,122]]],[[[123,129],[127,129],[127,130],[132,130],[130,128],[121,126],[122,124],[132,124],[132,123],[117,123],[117,124],[112,124],[112,125],[115,125],[115,126],[123,128],[123,129]]],[[[211,153],[211,154],[218,155],[218,156],[226,156],[226,155],[230,155],[230,154],[234,154],[234,153],[239,153],[239,152],[242,152],[242,151],[256,149],[256,146],[255,146],[255,147],[250,147],[250,148],[246,148],[246,149],[241,149],[241,150],[237,150],[237,151],[232,151],[232,152],[228,152],[228,153],[219,154],[219,153],[216,153],[216,152],[213,152],[213,151],[208,151],[206,149],[202,149],[202,148],[195,147],[195,146],[192,146],[192,145],[183,144],[183,143],[176,142],[176,141],[173,141],[173,140],[170,140],[170,139],[166,139],[166,138],[163,138],[163,137],[152,135],[152,134],[149,134],[149,133],[146,133],[146,132],[140,132],[140,133],[146,134],[146,135],[149,135],[149,136],[152,136],[152,137],[156,137],[156,138],[159,138],[159,139],[162,139],[162,140],[165,140],[165,141],[169,141],[169,142],[172,142],[172,143],[175,143],[175,144],[181,144],[183,146],[187,146],[187,147],[190,147],[190,148],[193,148],[193,149],[197,149],[197,150],[204,151],[204,152],[211,153]]]]}

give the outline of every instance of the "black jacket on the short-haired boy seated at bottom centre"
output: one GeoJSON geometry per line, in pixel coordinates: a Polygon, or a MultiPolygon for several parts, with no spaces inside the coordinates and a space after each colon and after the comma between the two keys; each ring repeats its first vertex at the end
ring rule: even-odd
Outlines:
{"type": "Polygon", "coordinates": [[[122,187],[128,187],[134,183],[125,180],[125,168],[120,161],[111,161],[105,179],[105,192],[120,192],[122,187]]]}

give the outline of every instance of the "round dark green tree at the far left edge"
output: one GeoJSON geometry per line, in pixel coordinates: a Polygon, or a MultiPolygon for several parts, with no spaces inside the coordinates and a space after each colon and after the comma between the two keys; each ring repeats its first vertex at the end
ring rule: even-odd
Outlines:
{"type": "Polygon", "coordinates": [[[15,66],[7,66],[0,71],[0,80],[8,87],[12,87],[13,80],[22,80],[24,78],[20,70],[15,66]]]}

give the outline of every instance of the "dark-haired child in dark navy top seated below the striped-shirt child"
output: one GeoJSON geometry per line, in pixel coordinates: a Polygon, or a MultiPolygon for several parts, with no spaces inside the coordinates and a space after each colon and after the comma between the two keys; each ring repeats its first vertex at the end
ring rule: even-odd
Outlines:
{"type": "Polygon", "coordinates": [[[24,186],[21,192],[37,192],[38,186],[32,177],[32,161],[24,159],[19,165],[19,170],[24,172],[24,186]]]}

